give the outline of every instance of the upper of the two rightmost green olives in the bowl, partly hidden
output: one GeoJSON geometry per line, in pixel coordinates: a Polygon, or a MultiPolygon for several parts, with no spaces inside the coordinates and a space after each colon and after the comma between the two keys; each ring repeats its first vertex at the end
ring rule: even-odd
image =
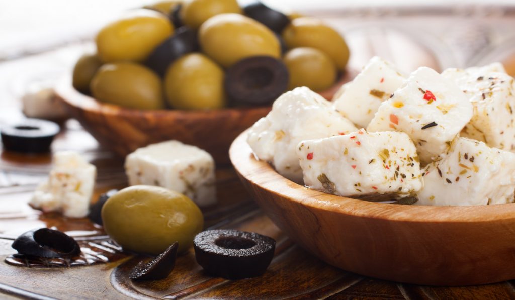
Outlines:
{"type": "Polygon", "coordinates": [[[282,37],[290,49],[313,47],[325,52],[339,70],[344,70],[349,60],[349,48],[340,33],[313,17],[291,20],[282,37]]]}

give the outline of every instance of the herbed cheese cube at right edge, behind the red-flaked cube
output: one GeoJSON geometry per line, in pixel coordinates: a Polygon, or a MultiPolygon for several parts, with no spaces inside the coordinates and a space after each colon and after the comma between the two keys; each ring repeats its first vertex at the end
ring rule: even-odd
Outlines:
{"type": "Polygon", "coordinates": [[[461,136],[490,147],[515,150],[515,84],[501,64],[467,69],[447,69],[442,76],[454,81],[474,107],[461,136]],[[501,71],[501,72],[500,72],[501,71]]]}

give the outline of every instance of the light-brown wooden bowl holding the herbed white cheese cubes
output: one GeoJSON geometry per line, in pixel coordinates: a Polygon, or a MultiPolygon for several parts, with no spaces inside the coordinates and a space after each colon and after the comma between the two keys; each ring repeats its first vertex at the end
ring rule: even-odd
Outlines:
{"type": "Polygon", "coordinates": [[[411,206],[308,189],[255,160],[244,132],[231,162],[268,217],[305,250],[354,273],[419,285],[515,278],[515,204],[411,206]]]}

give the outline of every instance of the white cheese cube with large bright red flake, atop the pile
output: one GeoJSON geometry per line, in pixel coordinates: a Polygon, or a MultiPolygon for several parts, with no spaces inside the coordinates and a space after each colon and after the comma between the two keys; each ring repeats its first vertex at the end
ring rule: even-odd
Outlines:
{"type": "Polygon", "coordinates": [[[421,67],[381,104],[367,130],[404,131],[425,165],[448,150],[471,117],[472,104],[458,86],[421,67]]]}

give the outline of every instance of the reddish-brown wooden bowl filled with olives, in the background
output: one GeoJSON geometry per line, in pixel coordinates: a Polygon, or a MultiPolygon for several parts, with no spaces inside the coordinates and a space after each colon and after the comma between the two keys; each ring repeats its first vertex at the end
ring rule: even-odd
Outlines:
{"type": "MultiPolygon", "coordinates": [[[[320,94],[331,99],[339,86],[355,74],[356,71],[347,72],[335,86],[320,94]]],[[[149,144],[177,139],[208,151],[218,164],[229,163],[232,141],[271,109],[269,106],[194,111],[127,109],[79,93],[69,77],[57,84],[56,94],[71,116],[100,145],[121,156],[149,144]]]]}

